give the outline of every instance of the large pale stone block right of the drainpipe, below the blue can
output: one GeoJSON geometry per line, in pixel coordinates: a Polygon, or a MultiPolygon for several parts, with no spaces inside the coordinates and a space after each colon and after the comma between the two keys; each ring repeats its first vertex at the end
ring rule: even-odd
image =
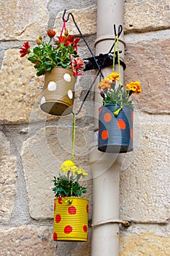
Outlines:
{"type": "MultiPolygon", "coordinates": [[[[136,117],[134,118],[134,122],[136,117]]],[[[120,213],[132,222],[168,222],[170,216],[169,116],[140,113],[139,148],[125,155],[120,213]],[[129,165],[130,164],[130,165],[129,165]],[[128,168],[126,168],[129,165],[128,168]]]]}

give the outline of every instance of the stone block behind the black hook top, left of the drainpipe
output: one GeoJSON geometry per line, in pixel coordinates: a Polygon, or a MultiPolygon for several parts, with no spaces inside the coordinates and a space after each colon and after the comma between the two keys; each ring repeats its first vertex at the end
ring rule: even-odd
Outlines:
{"type": "MultiPolygon", "coordinates": [[[[74,15],[74,20],[77,23],[80,31],[84,36],[88,36],[90,34],[96,34],[96,18],[97,18],[97,9],[96,5],[92,5],[87,8],[78,9],[70,9],[66,11],[65,19],[69,12],[74,15]],[[83,18],[82,18],[83,17],[83,18]]],[[[63,11],[58,12],[57,17],[55,18],[54,29],[59,36],[61,33],[61,20],[63,20],[63,11]]],[[[68,29],[69,34],[79,35],[80,33],[77,30],[74,22],[72,20],[72,16],[69,16],[69,20],[66,23],[66,29],[68,29]]]]}

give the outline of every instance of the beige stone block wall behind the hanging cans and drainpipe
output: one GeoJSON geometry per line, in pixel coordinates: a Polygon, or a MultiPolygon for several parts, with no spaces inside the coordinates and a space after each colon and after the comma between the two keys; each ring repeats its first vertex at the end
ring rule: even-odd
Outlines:
{"type": "MultiPolygon", "coordinates": [[[[74,14],[94,50],[96,0],[1,1],[0,26],[0,255],[90,256],[88,243],[53,241],[51,179],[71,154],[72,115],[49,116],[39,108],[43,78],[20,58],[47,29],[60,31],[63,10],[74,14]],[[83,18],[82,18],[83,17],[83,18]]],[[[125,156],[120,176],[121,256],[170,255],[170,4],[169,0],[125,0],[125,83],[140,80],[136,101],[135,148],[125,156]]],[[[77,34],[71,20],[70,32],[77,34]]],[[[81,40],[80,56],[90,56],[81,40]]],[[[77,80],[74,108],[80,107],[93,77],[77,80]]],[[[93,93],[77,116],[76,162],[89,175],[85,182],[92,217],[92,178],[88,152],[93,136],[93,93]]]]}

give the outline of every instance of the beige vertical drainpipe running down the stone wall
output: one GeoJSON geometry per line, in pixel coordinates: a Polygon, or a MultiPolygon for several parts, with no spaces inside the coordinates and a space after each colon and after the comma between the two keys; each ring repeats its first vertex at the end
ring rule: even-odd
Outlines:
{"type": "MultiPolygon", "coordinates": [[[[123,0],[98,0],[96,56],[108,53],[113,44],[113,25],[123,25],[123,0]]],[[[120,54],[124,59],[125,43],[123,32],[120,36],[120,54]]],[[[102,69],[104,76],[112,72],[112,67],[102,69]]],[[[121,67],[123,78],[123,68],[121,67]]],[[[123,79],[122,79],[123,80],[123,79]]],[[[98,107],[101,97],[95,93],[95,129],[98,128],[98,107]]],[[[90,165],[93,172],[93,233],[92,256],[119,255],[119,188],[120,167],[123,154],[102,153],[97,149],[97,139],[91,148],[90,165]]]]}

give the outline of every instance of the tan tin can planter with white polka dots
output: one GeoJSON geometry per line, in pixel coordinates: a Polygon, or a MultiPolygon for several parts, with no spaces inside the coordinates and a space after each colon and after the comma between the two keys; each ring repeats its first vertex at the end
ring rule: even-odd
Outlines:
{"type": "Polygon", "coordinates": [[[72,69],[53,67],[49,72],[45,72],[41,109],[56,116],[71,113],[75,82],[72,69]]]}

